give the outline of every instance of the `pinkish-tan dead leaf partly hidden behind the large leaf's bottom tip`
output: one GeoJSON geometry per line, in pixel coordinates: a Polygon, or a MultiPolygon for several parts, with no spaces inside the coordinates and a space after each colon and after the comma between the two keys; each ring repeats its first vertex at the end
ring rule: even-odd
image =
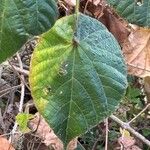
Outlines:
{"type": "MultiPolygon", "coordinates": [[[[39,113],[36,113],[35,118],[29,122],[29,128],[36,130],[36,135],[43,140],[45,145],[52,146],[55,150],[63,150],[63,143],[39,113]]],[[[67,149],[74,150],[76,147],[77,139],[74,139],[69,143],[67,149]]]]}

